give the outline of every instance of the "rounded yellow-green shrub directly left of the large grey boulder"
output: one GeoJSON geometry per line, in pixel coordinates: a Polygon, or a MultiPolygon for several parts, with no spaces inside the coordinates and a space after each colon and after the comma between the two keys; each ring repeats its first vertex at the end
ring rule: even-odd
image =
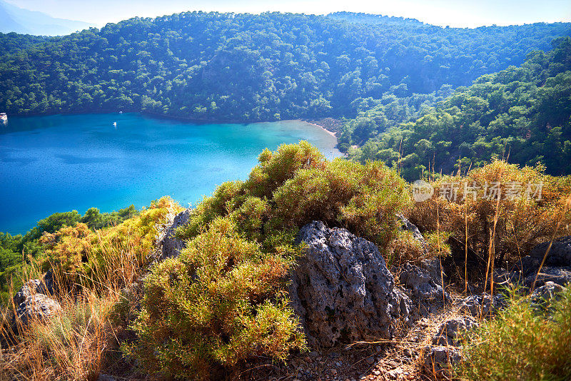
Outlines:
{"type": "Polygon", "coordinates": [[[142,311],[126,350],[146,372],[208,379],[252,356],[285,359],[303,333],[288,307],[285,275],[298,250],[262,253],[230,217],[216,218],[180,258],[146,278],[142,311]]]}

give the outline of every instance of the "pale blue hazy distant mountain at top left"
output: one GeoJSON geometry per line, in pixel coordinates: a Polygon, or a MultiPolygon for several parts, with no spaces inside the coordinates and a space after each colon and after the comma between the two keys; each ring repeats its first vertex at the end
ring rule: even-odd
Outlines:
{"type": "Polygon", "coordinates": [[[74,31],[88,29],[93,24],[84,21],[55,19],[41,12],[21,9],[0,0],[0,32],[35,34],[38,36],[63,36],[74,31]]]}

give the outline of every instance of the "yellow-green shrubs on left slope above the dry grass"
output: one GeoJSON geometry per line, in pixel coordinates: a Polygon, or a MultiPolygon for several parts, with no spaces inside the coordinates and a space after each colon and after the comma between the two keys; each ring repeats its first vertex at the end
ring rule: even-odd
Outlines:
{"type": "Polygon", "coordinates": [[[66,226],[40,238],[42,270],[51,268],[64,285],[121,288],[132,282],[151,260],[157,225],[180,210],[171,198],[153,201],[119,225],[90,230],[86,224],[66,226]]]}

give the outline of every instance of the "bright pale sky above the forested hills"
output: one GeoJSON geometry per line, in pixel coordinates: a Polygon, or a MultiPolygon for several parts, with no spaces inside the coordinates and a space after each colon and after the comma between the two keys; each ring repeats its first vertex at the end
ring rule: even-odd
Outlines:
{"type": "Polygon", "coordinates": [[[5,0],[31,11],[97,26],[134,16],[154,17],[181,11],[261,13],[335,11],[403,16],[440,26],[530,24],[571,21],[571,0],[5,0]]]}

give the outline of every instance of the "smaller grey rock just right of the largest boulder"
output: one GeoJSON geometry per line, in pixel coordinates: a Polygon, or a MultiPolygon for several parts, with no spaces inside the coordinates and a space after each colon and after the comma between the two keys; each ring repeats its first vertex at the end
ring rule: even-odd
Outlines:
{"type": "Polygon", "coordinates": [[[413,298],[435,303],[450,302],[450,295],[442,288],[438,258],[422,260],[419,265],[405,263],[400,270],[399,279],[410,289],[413,298]]]}

